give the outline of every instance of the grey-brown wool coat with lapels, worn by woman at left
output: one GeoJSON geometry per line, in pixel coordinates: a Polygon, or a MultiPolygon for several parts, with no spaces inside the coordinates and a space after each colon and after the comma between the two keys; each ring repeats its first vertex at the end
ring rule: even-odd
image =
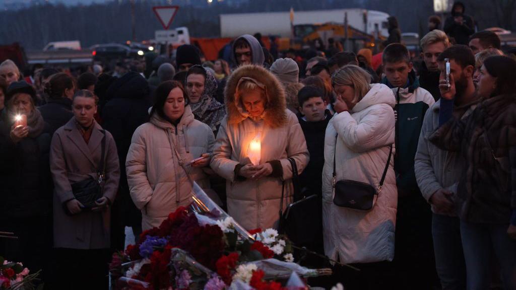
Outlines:
{"type": "Polygon", "coordinates": [[[88,143],[77,128],[75,117],[60,127],[52,138],[50,169],[54,180],[54,247],[71,249],[109,248],[111,208],[101,212],[65,213],[63,205],[73,199],[71,184],[89,176],[96,179],[106,136],[104,196],[115,200],[120,181],[117,147],[111,134],[95,122],[88,143]]]}

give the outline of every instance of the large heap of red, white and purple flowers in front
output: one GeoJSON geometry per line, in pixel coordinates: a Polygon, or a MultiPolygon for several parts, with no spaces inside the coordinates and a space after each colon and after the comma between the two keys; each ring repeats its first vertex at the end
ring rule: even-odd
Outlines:
{"type": "Polygon", "coordinates": [[[217,220],[178,208],[159,228],[143,232],[136,245],[113,255],[114,288],[279,290],[285,288],[275,279],[288,279],[293,270],[317,276],[293,263],[292,245],[276,230],[257,229],[247,239],[235,225],[229,216],[217,220]]]}

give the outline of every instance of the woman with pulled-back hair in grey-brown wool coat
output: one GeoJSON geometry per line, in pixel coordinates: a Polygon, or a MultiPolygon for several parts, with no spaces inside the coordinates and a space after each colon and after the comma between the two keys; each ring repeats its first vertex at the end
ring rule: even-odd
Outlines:
{"type": "Polygon", "coordinates": [[[95,122],[96,96],[90,91],[75,93],[74,117],[52,138],[50,169],[54,180],[54,247],[59,289],[107,288],[110,258],[110,207],[120,179],[117,147],[111,134],[95,122]],[[98,180],[104,146],[103,196],[85,208],[72,185],[90,178],[98,180]]]}

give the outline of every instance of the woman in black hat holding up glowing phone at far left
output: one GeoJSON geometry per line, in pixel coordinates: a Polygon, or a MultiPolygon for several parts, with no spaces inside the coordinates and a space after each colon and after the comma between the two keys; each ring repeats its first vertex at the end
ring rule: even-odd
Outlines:
{"type": "Polygon", "coordinates": [[[35,102],[36,91],[24,80],[8,87],[0,118],[0,231],[18,239],[0,239],[0,252],[31,270],[43,270],[44,279],[52,249],[50,135],[43,133],[35,102]]]}

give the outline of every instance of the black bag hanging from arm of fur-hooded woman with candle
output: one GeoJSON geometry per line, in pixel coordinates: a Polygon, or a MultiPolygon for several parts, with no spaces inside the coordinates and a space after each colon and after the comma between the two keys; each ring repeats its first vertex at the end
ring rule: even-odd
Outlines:
{"type": "Polygon", "coordinates": [[[289,204],[283,214],[283,198],[285,186],[281,192],[280,232],[299,247],[311,249],[322,234],[321,201],[317,195],[310,194],[300,186],[297,165],[294,159],[288,158],[292,166],[292,183],[294,185],[294,202],[289,204]]]}

